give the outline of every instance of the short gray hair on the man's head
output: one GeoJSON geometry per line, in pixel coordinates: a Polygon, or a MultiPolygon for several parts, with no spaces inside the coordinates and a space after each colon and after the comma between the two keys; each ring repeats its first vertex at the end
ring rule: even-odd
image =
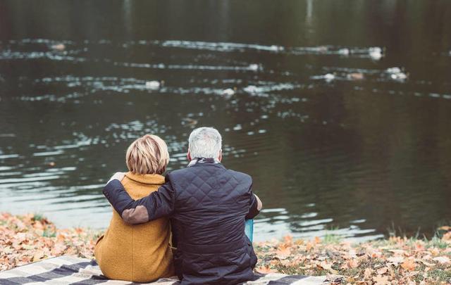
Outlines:
{"type": "Polygon", "coordinates": [[[222,145],[221,134],[213,127],[199,127],[190,134],[188,149],[191,158],[218,158],[222,145]]]}

